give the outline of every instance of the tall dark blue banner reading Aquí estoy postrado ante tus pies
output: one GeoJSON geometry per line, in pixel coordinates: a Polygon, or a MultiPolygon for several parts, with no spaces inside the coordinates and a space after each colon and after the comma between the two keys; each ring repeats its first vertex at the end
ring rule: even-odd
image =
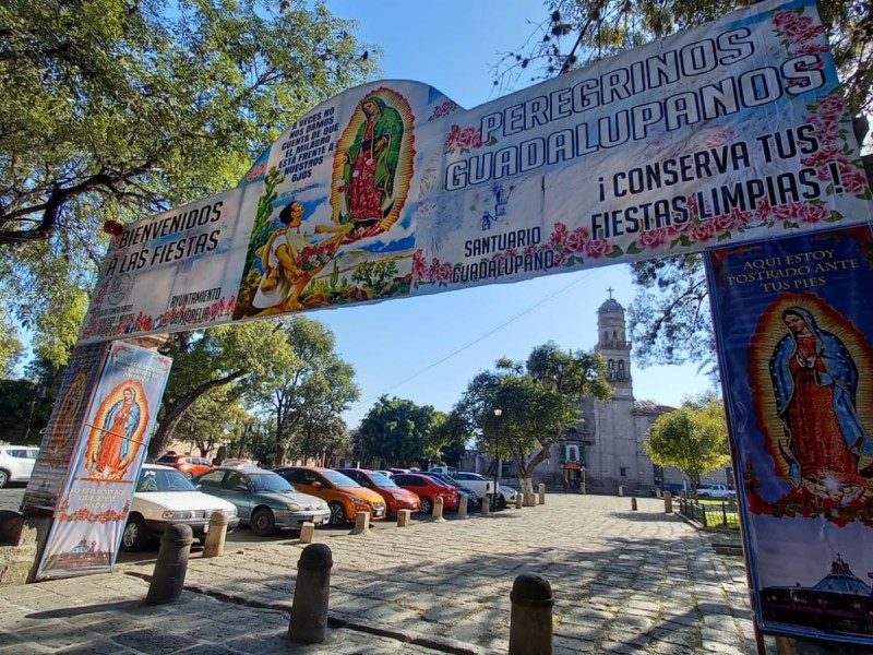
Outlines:
{"type": "Polygon", "coordinates": [[[707,252],[766,631],[873,645],[873,233],[707,252]]]}

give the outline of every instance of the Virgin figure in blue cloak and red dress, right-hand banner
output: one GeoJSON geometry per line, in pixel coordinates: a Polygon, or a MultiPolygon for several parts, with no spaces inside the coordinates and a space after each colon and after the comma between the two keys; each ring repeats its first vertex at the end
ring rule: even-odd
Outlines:
{"type": "Polygon", "coordinates": [[[857,485],[873,475],[873,442],[858,416],[858,368],[844,342],[803,307],[781,314],[788,331],[774,349],[770,376],[785,426],[789,478],[857,485]]]}

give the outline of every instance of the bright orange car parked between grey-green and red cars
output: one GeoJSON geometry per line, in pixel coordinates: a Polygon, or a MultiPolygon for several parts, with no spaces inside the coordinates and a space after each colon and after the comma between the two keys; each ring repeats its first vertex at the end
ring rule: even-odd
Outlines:
{"type": "Polygon", "coordinates": [[[385,501],[382,497],[338,471],[315,466],[285,466],[275,472],[291,483],[298,491],[326,500],[331,508],[331,525],[355,521],[358,512],[370,512],[371,521],[385,517],[385,501]]]}

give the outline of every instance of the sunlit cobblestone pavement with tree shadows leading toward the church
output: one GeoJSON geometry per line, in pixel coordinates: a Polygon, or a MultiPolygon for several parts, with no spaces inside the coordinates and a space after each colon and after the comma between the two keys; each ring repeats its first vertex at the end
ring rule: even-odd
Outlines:
{"type": "MultiPolygon", "coordinates": [[[[112,573],[4,587],[0,653],[506,653],[510,590],[537,573],[554,596],[554,652],[754,654],[742,558],[656,499],[554,493],[547,504],[369,534],[319,528],[333,552],[328,641],[285,641],[296,533],[229,536],[192,553],[176,605],[143,604],[154,560],[112,573]]],[[[767,638],[767,652],[775,647],[767,638]]]]}

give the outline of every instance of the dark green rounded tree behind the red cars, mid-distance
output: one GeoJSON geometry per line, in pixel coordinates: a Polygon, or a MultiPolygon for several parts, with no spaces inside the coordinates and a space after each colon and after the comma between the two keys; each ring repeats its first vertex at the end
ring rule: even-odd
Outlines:
{"type": "Polygon", "coordinates": [[[366,462],[409,466],[439,453],[445,433],[440,429],[445,415],[431,405],[386,395],[367,413],[356,433],[356,444],[366,462]]]}

